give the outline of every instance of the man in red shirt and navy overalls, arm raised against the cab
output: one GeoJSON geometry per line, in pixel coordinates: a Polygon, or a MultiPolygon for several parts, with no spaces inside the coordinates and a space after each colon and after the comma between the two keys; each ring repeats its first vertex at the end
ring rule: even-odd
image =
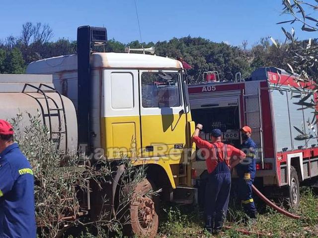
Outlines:
{"type": "Polygon", "coordinates": [[[245,158],[245,154],[232,145],[222,143],[220,129],[212,130],[212,143],[201,139],[198,135],[202,127],[201,124],[197,124],[192,140],[204,153],[209,173],[205,190],[205,228],[210,233],[217,234],[222,229],[228,210],[231,167],[239,164],[245,158]]]}

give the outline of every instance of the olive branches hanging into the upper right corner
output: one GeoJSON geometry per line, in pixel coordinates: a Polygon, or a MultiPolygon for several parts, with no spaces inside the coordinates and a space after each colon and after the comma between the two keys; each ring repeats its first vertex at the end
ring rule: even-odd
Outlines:
{"type": "MultiPolygon", "coordinates": [[[[294,24],[297,22],[302,24],[301,29],[303,31],[314,33],[318,31],[318,0],[282,0],[282,4],[284,6],[284,13],[289,14],[292,19],[279,22],[278,24],[294,24]]],[[[299,41],[296,38],[295,29],[293,27],[291,32],[286,31],[284,27],[282,27],[282,31],[286,36],[284,44],[278,44],[272,38],[271,40],[277,49],[286,47],[286,52],[289,52],[292,55],[292,60],[286,63],[289,68],[288,71],[291,74],[297,73],[296,81],[298,83],[303,82],[304,85],[312,85],[314,86],[313,90],[317,92],[318,86],[315,84],[313,85],[312,83],[318,82],[318,40],[309,39],[308,41],[299,41]]],[[[306,86],[304,86],[298,104],[302,105],[305,109],[312,108],[316,110],[313,119],[308,119],[307,126],[309,131],[312,131],[316,137],[318,137],[314,126],[317,124],[317,103],[314,99],[311,99],[310,103],[306,102],[313,94],[313,92],[308,92],[306,89],[306,86]]],[[[302,140],[312,138],[310,133],[304,133],[296,127],[295,129],[300,133],[300,135],[297,135],[298,138],[301,138],[302,140]]]]}

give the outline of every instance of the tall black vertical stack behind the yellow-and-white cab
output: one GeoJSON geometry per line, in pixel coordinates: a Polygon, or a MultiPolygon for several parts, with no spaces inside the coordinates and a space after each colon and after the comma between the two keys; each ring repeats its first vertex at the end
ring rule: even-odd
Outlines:
{"type": "MultiPolygon", "coordinates": [[[[107,42],[107,31],[104,27],[80,26],[78,28],[78,133],[79,145],[90,144],[90,53],[93,46],[102,46],[107,42]]],[[[88,151],[87,151],[88,149],[88,151]]]]}

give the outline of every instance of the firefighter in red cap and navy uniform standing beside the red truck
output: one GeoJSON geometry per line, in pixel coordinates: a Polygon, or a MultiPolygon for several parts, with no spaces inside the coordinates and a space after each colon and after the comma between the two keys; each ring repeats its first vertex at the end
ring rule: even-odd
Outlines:
{"type": "Polygon", "coordinates": [[[240,149],[244,151],[246,158],[237,166],[237,173],[239,176],[239,198],[245,213],[250,218],[256,218],[256,207],[252,197],[252,183],[256,173],[256,144],[251,138],[252,129],[249,126],[243,126],[240,131],[243,141],[240,149]]]}

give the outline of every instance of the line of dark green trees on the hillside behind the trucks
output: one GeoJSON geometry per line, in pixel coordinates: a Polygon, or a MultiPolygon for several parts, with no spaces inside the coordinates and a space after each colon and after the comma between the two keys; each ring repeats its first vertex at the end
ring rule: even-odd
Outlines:
{"type": "MultiPolygon", "coordinates": [[[[41,60],[50,57],[76,54],[76,41],[70,41],[61,38],[55,42],[50,41],[53,36],[52,29],[47,24],[26,22],[22,26],[19,37],[9,36],[3,43],[0,43],[0,49],[5,52],[0,59],[0,72],[22,72],[28,63],[34,60],[41,60]],[[11,51],[13,51],[11,53],[11,51]],[[18,60],[21,52],[24,60],[24,66],[18,60]],[[15,63],[4,64],[3,58],[9,57],[15,63]],[[7,68],[9,67],[9,68],[7,68]],[[2,68],[2,69],[1,69],[2,68]]],[[[312,41],[314,43],[314,41],[312,41]]],[[[287,62],[292,61],[293,54],[288,51],[290,43],[279,44],[281,47],[277,50],[275,45],[270,45],[268,38],[261,38],[251,49],[247,48],[247,41],[242,42],[242,46],[234,47],[225,43],[215,43],[201,37],[183,37],[173,38],[169,41],[141,43],[133,41],[123,44],[111,39],[104,47],[93,48],[97,52],[124,52],[125,47],[148,48],[156,47],[156,55],[169,58],[182,58],[188,62],[192,68],[188,70],[188,75],[192,83],[199,83],[203,80],[204,71],[218,71],[220,78],[231,72],[233,75],[241,72],[242,78],[249,77],[251,71],[262,66],[276,66],[286,68],[287,62]]],[[[147,53],[146,53],[147,54],[147,53]]],[[[317,70],[316,70],[317,71],[317,70]]]]}

